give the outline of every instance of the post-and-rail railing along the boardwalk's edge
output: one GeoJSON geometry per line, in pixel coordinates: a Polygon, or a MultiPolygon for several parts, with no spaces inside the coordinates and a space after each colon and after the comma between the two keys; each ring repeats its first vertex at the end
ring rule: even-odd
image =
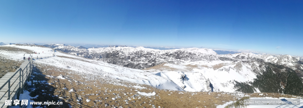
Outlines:
{"type": "MultiPolygon", "coordinates": [[[[5,91],[5,93],[1,96],[0,100],[2,100],[3,97],[5,97],[6,93],[8,93],[8,100],[10,100],[10,97],[12,95],[11,92],[13,93],[18,85],[19,85],[19,88],[16,91],[16,94],[17,94],[17,100],[19,100],[19,96],[20,96],[21,93],[23,93],[23,87],[24,87],[24,84],[25,84],[23,82],[24,81],[24,70],[26,69],[25,79],[29,81],[29,77],[32,75],[32,68],[33,68],[32,64],[33,64],[33,60],[30,59],[30,62],[28,62],[28,64],[25,66],[24,69],[22,69],[21,66],[20,66],[20,68],[18,68],[17,71],[0,87],[0,90],[2,90],[5,86],[7,86],[6,84],[8,84],[8,90],[5,91]],[[12,85],[11,85],[11,79],[17,73],[19,73],[19,76],[17,77],[17,79],[15,79],[14,82],[12,82],[12,85]],[[22,77],[22,79],[21,79],[21,77],[22,77]],[[17,82],[18,78],[19,78],[19,82],[17,82]],[[11,91],[11,87],[14,85],[14,83],[18,83],[18,85],[15,88],[13,88],[13,90],[11,91]],[[21,86],[21,84],[22,84],[22,86],[21,86]]],[[[2,108],[3,106],[4,106],[4,104],[0,107],[2,108]]]]}

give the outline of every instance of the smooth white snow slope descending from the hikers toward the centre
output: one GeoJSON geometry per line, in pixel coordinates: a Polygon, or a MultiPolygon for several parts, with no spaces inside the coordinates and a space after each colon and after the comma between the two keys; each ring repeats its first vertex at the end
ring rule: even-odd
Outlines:
{"type": "MultiPolygon", "coordinates": [[[[42,48],[36,46],[13,45],[13,47],[28,49],[32,51],[52,50],[50,48],[42,48]]],[[[10,55],[10,54],[5,54],[5,55],[10,55]]],[[[52,52],[43,53],[41,55],[50,56],[52,55],[52,52]]],[[[54,57],[36,59],[34,62],[56,66],[64,69],[71,69],[73,71],[77,71],[80,73],[88,73],[94,75],[94,76],[87,76],[87,78],[96,77],[96,76],[112,77],[112,78],[122,79],[134,83],[154,86],[159,89],[172,89],[172,90],[184,91],[177,84],[175,84],[174,82],[172,82],[167,78],[160,77],[152,73],[144,73],[142,70],[139,69],[131,69],[131,68],[126,68],[113,64],[108,64],[102,61],[84,59],[82,57],[63,54],[60,52],[55,52],[55,55],[56,56],[54,57]],[[58,57],[58,56],[65,56],[65,57],[58,57]]],[[[22,54],[16,54],[13,59],[18,59],[22,57],[23,57],[22,54]]]]}

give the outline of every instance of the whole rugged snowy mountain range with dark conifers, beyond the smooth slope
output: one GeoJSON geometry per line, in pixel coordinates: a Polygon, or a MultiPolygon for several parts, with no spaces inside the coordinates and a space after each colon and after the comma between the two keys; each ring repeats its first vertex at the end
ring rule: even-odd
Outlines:
{"type": "Polygon", "coordinates": [[[291,88],[291,84],[299,83],[299,88],[303,85],[303,61],[289,55],[249,52],[218,55],[212,49],[199,48],[158,50],[114,46],[84,49],[64,44],[50,47],[80,57],[142,69],[173,81],[185,91],[287,93],[298,89],[291,88]],[[265,83],[275,86],[265,86],[268,85],[265,83]]]}

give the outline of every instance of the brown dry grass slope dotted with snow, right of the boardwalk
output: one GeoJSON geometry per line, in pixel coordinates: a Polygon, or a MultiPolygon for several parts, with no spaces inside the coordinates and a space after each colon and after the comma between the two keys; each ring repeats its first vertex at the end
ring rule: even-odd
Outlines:
{"type": "Polygon", "coordinates": [[[172,91],[165,89],[158,89],[148,85],[140,85],[126,81],[118,81],[125,86],[117,86],[113,85],[110,80],[106,78],[99,78],[94,81],[87,81],[84,78],[84,75],[78,75],[71,72],[71,70],[59,69],[52,66],[38,66],[40,70],[43,70],[43,75],[51,75],[51,76],[59,76],[63,75],[67,79],[58,79],[52,77],[46,77],[48,79],[48,83],[54,83],[51,86],[54,86],[56,89],[54,90],[54,95],[58,95],[60,97],[65,97],[64,100],[68,100],[73,107],[105,107],[105,104],[108,104],[113,107],[114,106],[122,106],[123,108],[136,108],[136,107],[147,107],[150,108],[152,105],[156,107],[161,106],[164,108],[192,108],[192,107],[200,107],[204,108],[211,107],[214,108],[217,105],[224,104],[225,102],[229,102],[230,100],[236,100],[235,96],[230,93],[224,92],[181,92],[181,91],[172,91]],[[49,70],[47,70],[49,69],[49,70]],[[52,70],[50,70],[52,69],[52,70]],[[60,72],[61,71],[61,72],[60,72]],[[68,81],[70,80],[70,81],[68,81]],[[77,82],[75,82],[75,80],[77,82]],[[142,86],[146,87],[146,89],[136,89],[132,86],[142,86]],[[67,88],[67,90],[62,89],[67,88]],[[75,92],[68,92],[70,89],[74,89],[75,92]],[[80,91],[85,90],[85,91],[80,91]],[[110,92],[111,90],[111,92],[110,92]],[[138,95],[138,90],[140,92],[152,93],[155,91],[155,96],[140,96],[138,95]],[[114,95],[115,93],[116,95],[114,95]],[[184,93],[184,94],[183,94],[184,93]],[[87,95],[90,94],[90,95],[87,95]],[[93,95],[92,95],[93,94],[93,95]],[[98,94],[98,96],[96,96],[98,94]],[[124,95],[126,94],[126,95],[124,95]],[[168,95],[170,94],[170,95],[168,95]],[[135,95],[135,96],[134,96],[135,95]],[[112,100],[116,96],[121,96],[121,98],[117,98],[116,100],[112,100]],[[81,97],[82,100],[77,101],[78,98],[81,97]],[[135,99],[133,99],[133,97],[135,99]],[[141,98],[139,98],[141,97],[141,98]],[[124,100],[128,100],[131,98],[132,100],[128,101],[128,104],[124,100]],[[90,102],[86,102],[86,99],[90,99],[90,102]],[[99,102],[102,101],[102,102],[99,102]],[[80,104],[78,104],[80,103],[80,104]]]}

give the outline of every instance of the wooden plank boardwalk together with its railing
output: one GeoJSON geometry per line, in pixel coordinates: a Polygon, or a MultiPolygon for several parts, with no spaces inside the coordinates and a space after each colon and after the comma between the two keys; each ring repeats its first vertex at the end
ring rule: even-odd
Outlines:
{"type": "MultiPolygon", "coordinates": [[[[19,99],[26,80],[32,75],[32,59],[25,60],[15,72],[6,73],[0,79],[0,108],[6,108],[5,100],[19,99]],[[10,86],[9,86],[10,85],[10,86]]],[[[13,103],[14,101],[12,101],[13,103]]]]}

